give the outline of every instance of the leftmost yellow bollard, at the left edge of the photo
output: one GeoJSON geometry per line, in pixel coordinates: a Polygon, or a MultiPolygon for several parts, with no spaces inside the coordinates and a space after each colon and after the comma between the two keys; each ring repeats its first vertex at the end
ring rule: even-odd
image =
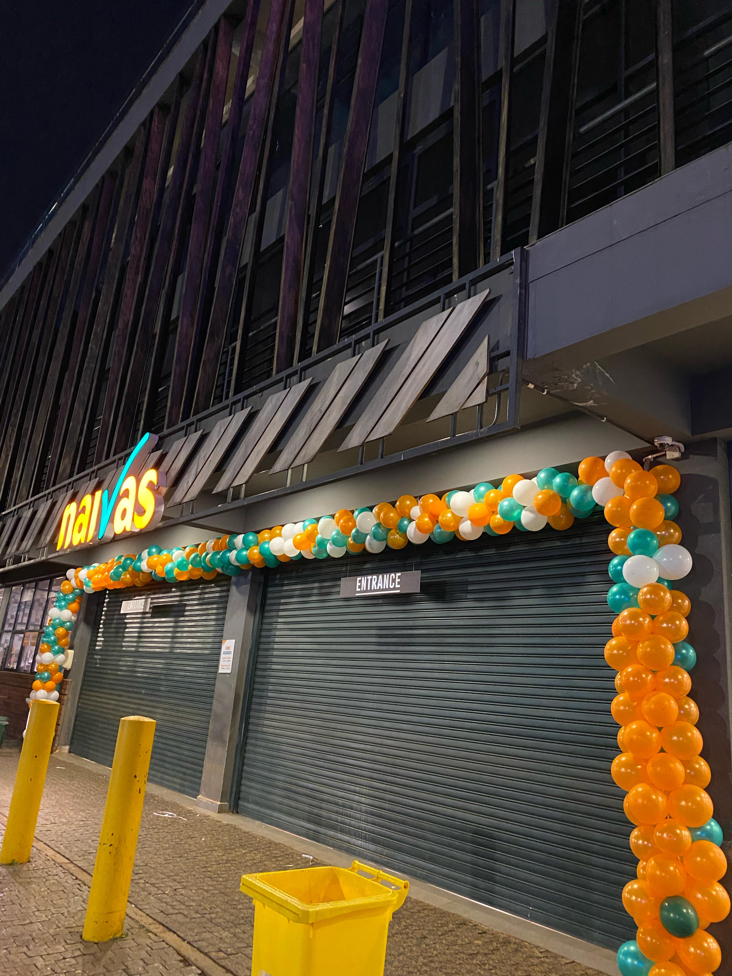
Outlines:
{"type": "Polygon", "coordinates": [[[25,864],[30,859],[58,716],[58,702],[36,700],[30,703],[0,864],[25,864]]]}

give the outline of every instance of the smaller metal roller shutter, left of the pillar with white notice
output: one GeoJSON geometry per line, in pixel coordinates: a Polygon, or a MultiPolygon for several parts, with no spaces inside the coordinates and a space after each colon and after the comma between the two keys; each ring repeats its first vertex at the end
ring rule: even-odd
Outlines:
{"type": "Polygon", "coordinates": [[[224,635],[228,579],[160,584],[145,613],[123,614],[130,590],[109,590],[87,658],[71,752],[110,766],[119,719],[157,722],[149,780],[197,796],[224,635]]]}

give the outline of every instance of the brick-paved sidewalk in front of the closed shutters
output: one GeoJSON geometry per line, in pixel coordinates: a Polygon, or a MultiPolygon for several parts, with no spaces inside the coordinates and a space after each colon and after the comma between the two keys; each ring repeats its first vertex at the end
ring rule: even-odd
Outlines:
{"type": "MultiPolygon", "coordinates": [[[[2,815],[10,803],[18,755],[0,750],[2,815]]],[[[200,970],[176,951],[176,945],[181,949],[177,936],[233,976],[250,976],[254,911],[239,892],[241,874],[316,862],[295,847],[150,790],[130,902],[175,933],[173,946],[129,913],[125,938],[103,946],[84,943],[87,889],[78,878],[94,869],[107,783],[102,772],[80,766],[75,758],[52,755],[36,838],[71,864],[64,867],[34,849],[28,865],[0,868],[0,973],[193,976],[200,970]]],[[[0,821],[0,834],[2,829],[0,821]]],[[[198,965],[205,968],[200,959],[198,965]]],[[[386,976],[431,974],[599,976],[563,956],[410,896],[391,922],[386,976]]]]}

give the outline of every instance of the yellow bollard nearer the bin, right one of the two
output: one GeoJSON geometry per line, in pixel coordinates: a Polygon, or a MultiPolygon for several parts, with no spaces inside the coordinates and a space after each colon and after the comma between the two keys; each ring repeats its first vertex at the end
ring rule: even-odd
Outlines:
{"type": "Polygon", "coordinates": [[[122,935],[154,734],[152,718],[120,718],[84,919],[82,938],[87,942],[106,942],[122,935]]]}

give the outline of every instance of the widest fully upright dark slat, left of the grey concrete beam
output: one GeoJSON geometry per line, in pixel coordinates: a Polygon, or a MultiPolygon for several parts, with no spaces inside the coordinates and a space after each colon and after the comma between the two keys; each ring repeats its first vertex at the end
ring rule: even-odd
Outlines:
{"type": "Polygon", "coordinates": [[[453,277],[461,278],[482,259],[478,0],[455,0],[454,21],[453,277]]]}

